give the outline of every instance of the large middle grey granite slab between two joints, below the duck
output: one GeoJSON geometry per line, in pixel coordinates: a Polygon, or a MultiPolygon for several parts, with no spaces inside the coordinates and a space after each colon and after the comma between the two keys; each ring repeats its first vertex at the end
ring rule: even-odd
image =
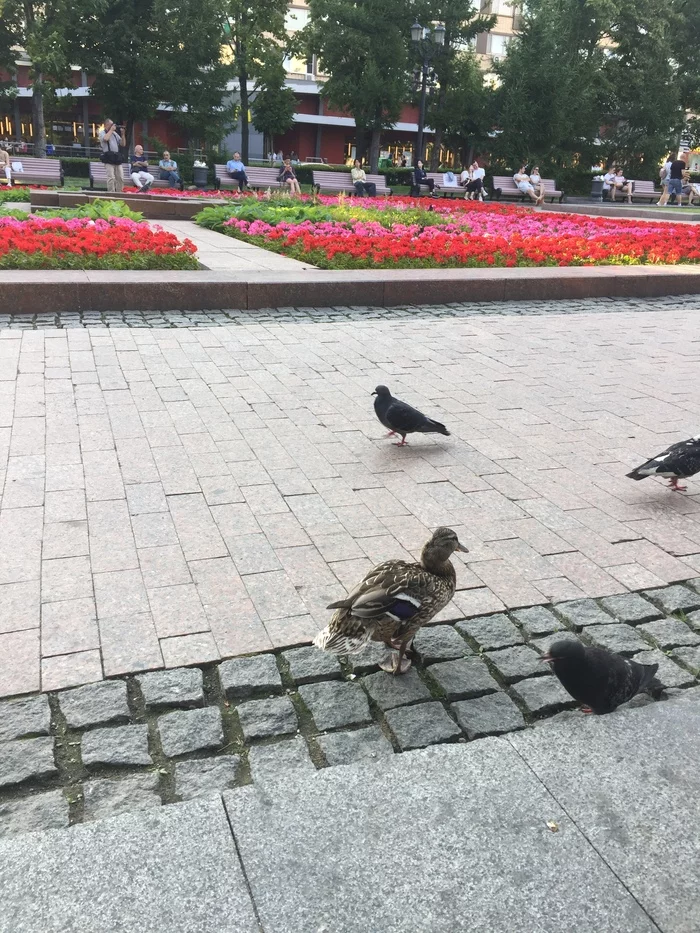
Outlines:
{"type": "Polygon", "coordinates": [[[224,801],[266,933],[658,933],[499,739],[224,801]]]}

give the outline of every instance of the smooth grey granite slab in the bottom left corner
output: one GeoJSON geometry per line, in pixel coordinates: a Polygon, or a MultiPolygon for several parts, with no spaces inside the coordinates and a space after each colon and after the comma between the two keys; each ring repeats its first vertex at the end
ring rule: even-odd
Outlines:
{"type": "Polygon", "coordinates": [[[221,801],[0,840],[0,933],[260,933],[221,801]]]}

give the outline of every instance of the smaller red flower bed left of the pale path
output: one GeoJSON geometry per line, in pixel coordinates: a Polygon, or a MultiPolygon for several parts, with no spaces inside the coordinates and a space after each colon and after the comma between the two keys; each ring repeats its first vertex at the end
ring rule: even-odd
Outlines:
{"type": "Polygon", "coordinates": [[[196,248],[147,223],[0,216],[0,269],[196,269],[196,248]]]}

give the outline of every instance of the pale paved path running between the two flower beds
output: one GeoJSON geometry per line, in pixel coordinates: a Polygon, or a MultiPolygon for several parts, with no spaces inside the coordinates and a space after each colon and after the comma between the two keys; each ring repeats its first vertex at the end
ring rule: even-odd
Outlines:
{"type": "Polygon", "coordinates": [[[216,230],[198,227],[190,220],[158,220],[152,226],[169,230],[181,240],[192,240],[197,247],[197,259],[212,272],[302,272],[316,268],[216,230]]]}

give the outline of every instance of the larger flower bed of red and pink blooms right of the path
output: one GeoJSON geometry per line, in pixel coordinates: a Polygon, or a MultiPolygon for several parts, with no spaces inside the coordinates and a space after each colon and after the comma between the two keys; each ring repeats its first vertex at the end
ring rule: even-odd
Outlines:
{"type": "Polygon", "coordinates": [[[241,199],[198,222],[324,269],[635,265],[700,261],[689,224],[409,198],[241,199]],[[214,215],[218,212],[216,221],[214,215]]]}

